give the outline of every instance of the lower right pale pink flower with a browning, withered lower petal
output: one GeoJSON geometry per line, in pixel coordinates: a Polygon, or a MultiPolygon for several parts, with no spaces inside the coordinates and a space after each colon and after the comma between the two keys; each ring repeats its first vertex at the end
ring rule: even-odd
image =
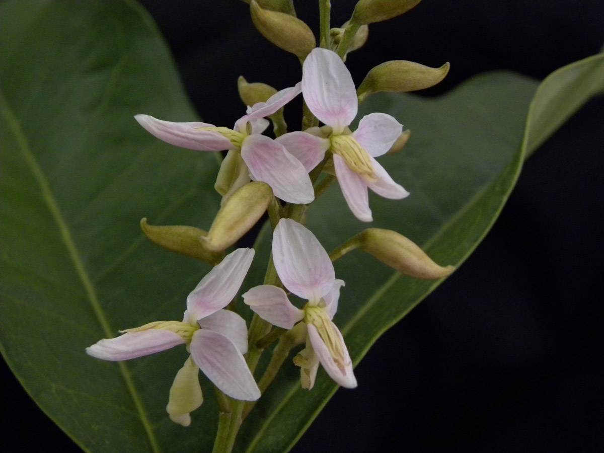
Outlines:
{"type": "Polygon", "coordinates": [[[273,236],[272,257],[284,286],[308,302],[298,309],[283,289],[271,284],[250,289],[243,294],[243,301],[275,326],[292,329],[298,321],[306,325],[306,349],[294,359],[301,367],[304,388],[312,388],[319,362],[339,385],[356,387],[344,339],[332,323],[344,281],[336,280],[329,255],[304,226],[281,219],[273,236]]]}

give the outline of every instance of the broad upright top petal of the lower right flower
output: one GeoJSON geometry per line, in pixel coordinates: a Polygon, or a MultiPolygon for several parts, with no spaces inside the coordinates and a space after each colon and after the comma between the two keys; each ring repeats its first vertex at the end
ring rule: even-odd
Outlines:
{"type": "Polygon", "coordinates": [[[309,230],[291,219],[281,219],[272,237],[272,258],[289,291],[318,303],[335,281],[329,255],[309,230]]]}

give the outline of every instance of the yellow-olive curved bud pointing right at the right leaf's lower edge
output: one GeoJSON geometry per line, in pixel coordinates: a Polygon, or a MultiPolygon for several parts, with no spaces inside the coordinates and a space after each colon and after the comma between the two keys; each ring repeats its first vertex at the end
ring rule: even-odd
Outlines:
{"type": "Polygon", "coordinates": [[[358,237],[362,250],[411,277],[435,280],[455,271],[455,266],[437,265],[419,246],[396,231],[368,228],[358,237]]]}

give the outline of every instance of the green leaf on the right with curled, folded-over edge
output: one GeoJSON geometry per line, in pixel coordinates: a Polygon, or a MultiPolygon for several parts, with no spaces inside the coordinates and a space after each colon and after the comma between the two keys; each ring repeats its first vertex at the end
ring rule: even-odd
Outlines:
{"type": "MultiPolygon", "coordinates": [[[[495,72],[475,77],[440,98],[395,94],[369,98],[362,115],[386,112],[412,131],[400,155],[381,159],[411,196],[402,201],[370,196],[374,225],[410,237],[439,264],[460,265],[500,213],[524,154],[602,87],[604,54],[599,54],[557,70],[541,85],[495,72]]],[[[327,249],[366,228],[335,187],[309,210],[308,226],[327,249]]],[[[334,322],[355,364],[440,283],[393,273],[360,251],[338,260],[335,268],[347,286],[342,288],[334,322]]],[[[359,385],[379,385],[379,376],[359,385]]],[[[298,369],[286,362],[257,403],[257,417],[252,411],[244,423],[236,451],[288,451],[337,388],[320,371],[313,390],[302,390],[298,369]]]]}

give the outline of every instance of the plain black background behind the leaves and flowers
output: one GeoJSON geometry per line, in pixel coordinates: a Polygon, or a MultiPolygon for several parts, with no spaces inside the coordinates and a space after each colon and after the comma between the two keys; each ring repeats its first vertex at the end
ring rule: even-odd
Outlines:
{"type": "MultiPolygon", "coordinates": [[[[240,74],[278,89],[300,79],[297,59],[255,31],[241,1],[142,3],[208,122],[240,116],[240,74]]],[[[332,24],[354,4],[333,0],[332,24]]],[[[295,5],[316,30],[317,2],[295,5]]],[[[372,25],[348,63],[359,83],[385,60],[449,61],[445,82],[422,92],[438,95],[493,69],[542,79],[603,43],[602,0],[424,0],[372,25]]],[[[530,158],[477,251],[377,341],[355,370],[359,388],[339,390],[292,452],[604,451],[603,153],[600,97],[530,158]]],[[[18,450],[0,450],[79,451],[2,366],[2,393],[15,399],[8,426],[22,431],[18,450]]]]}

